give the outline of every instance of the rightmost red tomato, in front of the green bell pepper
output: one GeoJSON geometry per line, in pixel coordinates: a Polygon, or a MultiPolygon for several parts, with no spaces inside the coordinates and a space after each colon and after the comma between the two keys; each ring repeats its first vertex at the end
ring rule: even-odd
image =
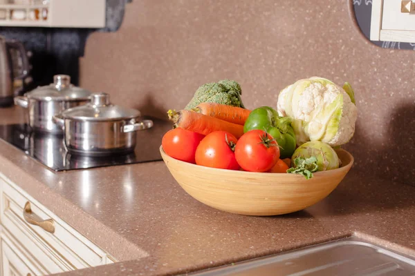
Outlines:
{"type": "Polygon", "coordinates": [[[239,138],[235,157],[243,170],[266,172],[277,163],[279,146],[264,130],[250,130],[239,138]]]}

